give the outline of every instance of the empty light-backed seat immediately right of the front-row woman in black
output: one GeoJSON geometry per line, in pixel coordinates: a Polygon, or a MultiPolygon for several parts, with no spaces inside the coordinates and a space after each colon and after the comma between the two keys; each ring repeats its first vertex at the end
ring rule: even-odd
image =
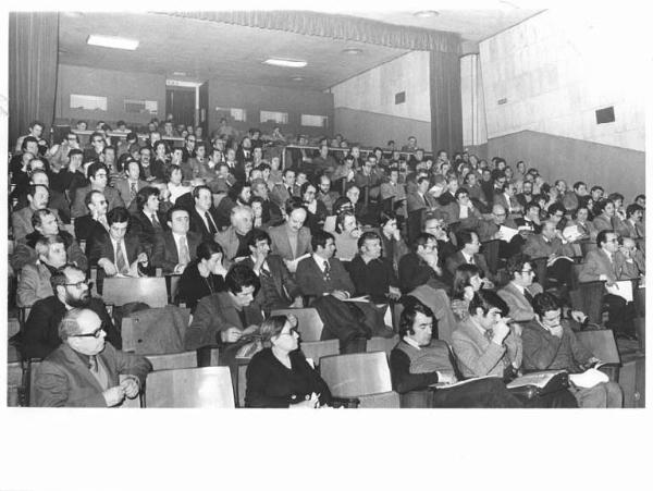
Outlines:
{"type": "Polygon", "coordinates": [[[357,400],[360,408],[399,407],[383,352],[325,356],[320,375],[334,397],[357,400]]]}

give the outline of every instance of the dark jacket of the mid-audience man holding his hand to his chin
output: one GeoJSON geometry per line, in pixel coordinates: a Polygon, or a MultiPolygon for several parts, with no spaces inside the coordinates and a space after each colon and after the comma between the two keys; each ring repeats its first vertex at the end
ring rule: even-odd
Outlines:
{"type": "MultiPolygon", "coordinates": [[[[245,258],[242,263],[254,269],[251,256],[245,258]]],[[[301,294],[299,286],[279,256],[269,255],[266,263],[270,273],[259,274],[261,287],[256,296],[257,304],[261,306],[264,312],[278,308],[288,308],[294,299],[301,294]]]]}

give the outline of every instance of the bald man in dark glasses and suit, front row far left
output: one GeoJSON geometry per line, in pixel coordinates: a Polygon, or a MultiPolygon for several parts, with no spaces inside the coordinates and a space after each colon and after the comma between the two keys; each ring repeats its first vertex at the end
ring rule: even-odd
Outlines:
{"type": "Polygon", "coordinates": [[[135,398],[152,366],[147,358],[106,344],[102,320],[93,310],[70,310],[59,326],[62,345],[38,367],[35,405],[113,407],[135,398]],[[122,381],[119,377],[125,376],[122,381]]]}

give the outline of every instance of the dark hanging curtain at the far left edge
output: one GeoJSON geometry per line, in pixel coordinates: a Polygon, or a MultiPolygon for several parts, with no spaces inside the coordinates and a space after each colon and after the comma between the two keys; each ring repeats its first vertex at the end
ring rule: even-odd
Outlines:
{"type": "Polygon", "coordinates": [[[9,148],[34,120],[45,124],[48,139],[54,120],[59,14],[9,14],[9,148]]]}

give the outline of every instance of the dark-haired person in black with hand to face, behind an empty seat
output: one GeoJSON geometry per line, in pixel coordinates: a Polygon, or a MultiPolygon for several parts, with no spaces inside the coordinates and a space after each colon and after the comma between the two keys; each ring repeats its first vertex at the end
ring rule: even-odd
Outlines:
{"type": "Polygon", "coordinates": [[[224,291],[223,259],[220,244],[204,241],[197,246],[196,258],[184,269],[177,290],[178,300],[185,303],[190,312],[204,297],[224,291]]]}

